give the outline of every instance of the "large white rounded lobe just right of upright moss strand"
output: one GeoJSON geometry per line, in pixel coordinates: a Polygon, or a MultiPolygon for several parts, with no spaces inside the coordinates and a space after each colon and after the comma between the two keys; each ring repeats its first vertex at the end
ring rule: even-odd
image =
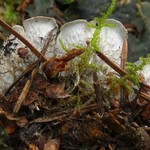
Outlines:
{"type": "Polygon", "coordinates": [[[106,23],[110,26],[104,26],[101,29],[100,50],[117,64],[120,64],[123,42],[127,40],[127,30],[117,20],[107,19],[106,23]]]}

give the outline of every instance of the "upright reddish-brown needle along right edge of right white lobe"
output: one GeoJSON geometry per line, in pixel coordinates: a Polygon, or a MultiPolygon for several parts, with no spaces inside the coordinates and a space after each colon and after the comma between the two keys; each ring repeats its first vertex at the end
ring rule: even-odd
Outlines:
{"type": "MultiPolygon", "coordinates": [[[[125,40],[123,42],[122,52],[121,52],[121,68],[125,70],[126,63],[127,63],[127,55],[128,55],[128,42],[125,40]]],[[[120,103],[125,104],[126,102],[126,89],[125,87],[121,86],[120,90],[120,103]]]]}

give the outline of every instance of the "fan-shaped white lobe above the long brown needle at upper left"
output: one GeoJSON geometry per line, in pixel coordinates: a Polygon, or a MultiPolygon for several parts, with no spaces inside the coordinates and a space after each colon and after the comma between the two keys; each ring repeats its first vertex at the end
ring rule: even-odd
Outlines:
{"type": "Polygon", "coordinates": [[[49,32],[56,28],[55,32],[51,35],[52,40],[49,43],[50,46],[47,48],[46,53],[47,57],[52,57],[54,53],[53,45],[55,44],[55,37],[58,28],[56,20],[54,18],[43,16],[33,17],[25,20],[23,22],[23,27],[26,33],[26,38],[39,51],[43,49],[49,32]]]}

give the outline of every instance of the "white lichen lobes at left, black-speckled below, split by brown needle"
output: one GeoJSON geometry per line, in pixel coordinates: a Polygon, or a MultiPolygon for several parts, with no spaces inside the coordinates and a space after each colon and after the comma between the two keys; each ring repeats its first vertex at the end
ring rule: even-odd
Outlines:
{"type": "MultiPolygon", "coordinates": [[[[33,17],[23,22],[23,26],[15,25],[13,29],[26,38],[37,50],[41,51],[44,47],[44,42],[47,39],[49,32],[57,28],[54,18],[50,17],[33,17]]],[[[53,56],[53,46],[55,43],[55,36],[52,35],[51,41],[47,49],[47,57],[53,56]]],[[[0,53],[0,92],[4,91],[18,78],[22,71],[37,60],[37,57],[28,49],[27,56],[21,58],[18,55],[19,48],[27,48],[14,35],[10,35],[3,43],[3,49],[0,53]]]]}

